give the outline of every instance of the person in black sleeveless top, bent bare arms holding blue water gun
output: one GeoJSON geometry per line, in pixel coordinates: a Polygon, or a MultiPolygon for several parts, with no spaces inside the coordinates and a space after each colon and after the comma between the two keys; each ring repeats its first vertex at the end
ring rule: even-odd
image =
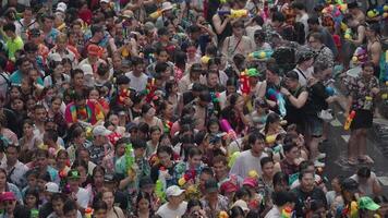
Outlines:
{"type": "Polygon", "coordinates": [[[305,114],[304,106],[307,101],[308,93],[305,87],[299,84],[299,75],[295,71],[290,71],[286,74],[286,87],[281,87],[280,92],[286,100],[287,116],[284,119],[289,124],[295,123],[299,132],[305,133],[305,114]]]}

